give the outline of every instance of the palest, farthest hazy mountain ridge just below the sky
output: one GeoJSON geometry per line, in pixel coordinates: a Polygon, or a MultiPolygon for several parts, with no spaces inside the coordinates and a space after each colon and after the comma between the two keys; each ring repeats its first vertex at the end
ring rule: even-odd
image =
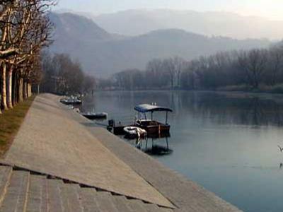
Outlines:
{"type": "Polygon", "coordinates": [[[123,35],[141,35],[152,30],[179,28],[202,35],[237,39],[283,38],[283,21],[227,12],[129,10],[103,14],[93,20],[108,32],[123,35]]]}

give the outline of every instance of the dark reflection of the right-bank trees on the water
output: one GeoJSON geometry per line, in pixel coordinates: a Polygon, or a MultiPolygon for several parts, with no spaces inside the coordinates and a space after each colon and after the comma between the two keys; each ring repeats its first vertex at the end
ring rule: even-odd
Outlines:
{"type": "Polygon", "coordinates": [[[180,95],[183,95],[183,110],[195,118],[211,119],[217,124],[283,125],[283,102],[277,99],[219,93],[180,95]]]}

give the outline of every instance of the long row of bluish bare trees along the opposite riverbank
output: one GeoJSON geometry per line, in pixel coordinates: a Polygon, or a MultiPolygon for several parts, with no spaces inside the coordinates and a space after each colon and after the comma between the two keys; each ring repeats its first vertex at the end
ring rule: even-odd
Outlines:
{"type": "Polygon", "coordinates": [[[115,73],[110,82],[112,87],[125,90],[272,87],[283,83],[283,47],[219,52],[191,61],[181,57],[152,59],[145,71],[121,71],[115,73]]]}

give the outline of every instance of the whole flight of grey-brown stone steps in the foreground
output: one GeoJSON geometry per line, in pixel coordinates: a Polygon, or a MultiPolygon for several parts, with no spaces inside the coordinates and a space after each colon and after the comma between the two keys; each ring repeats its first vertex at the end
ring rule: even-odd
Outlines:
{"type": "Polygon", "coordinates": [[[172,212],[139,199],[0,165],[0,211],[172,212]]]}

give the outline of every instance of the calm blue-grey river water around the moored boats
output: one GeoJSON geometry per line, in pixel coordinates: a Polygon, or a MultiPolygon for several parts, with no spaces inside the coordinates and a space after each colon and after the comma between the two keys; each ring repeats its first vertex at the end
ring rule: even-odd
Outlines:
{"type": "MultiPolygon", "coordinates": [[[[86,97],[83,110],[108,112],[116,122],[131,123],[134,106],[151,102],[174,111],[167,138],[172,152],[153,157],[243,211],[283,210],[283,153],[277,148],[283,147],[283,95],[98,92],[86,97]]],[[[164,122],[165,114],[154,115],[164,122]]],[[[141,150],[167,148],[165,138],[147,146],[146,141],[127,142],[141,150]]]]}

